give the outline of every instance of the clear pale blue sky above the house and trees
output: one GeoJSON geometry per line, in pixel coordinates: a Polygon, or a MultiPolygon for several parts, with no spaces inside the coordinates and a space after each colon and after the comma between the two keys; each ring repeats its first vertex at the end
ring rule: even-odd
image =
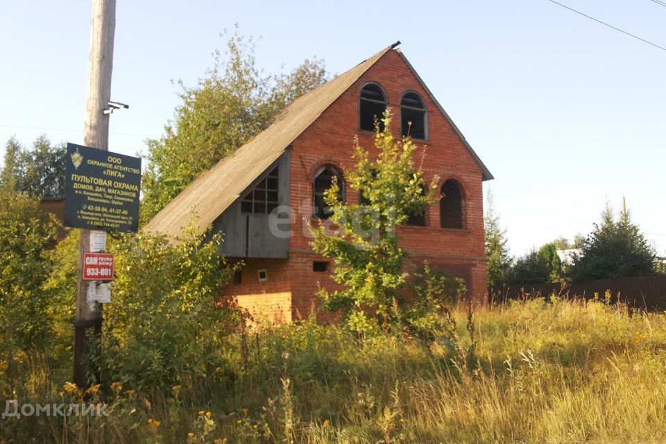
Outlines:
{"type": "MultiPolygon", "coordinates": [[[[561,0],[666,47],[652,0],[561,0]]],[[[83,142],[90,2],[0,1],[0,142],[83,142]]],[[[666,51],[548,0],[117,0],[110,150],[135,154],[238,23],[267,73],[339,74],[396,40],[484,160],[513,254],[592,229],[622,196],[666,255],[666,51]]],[[[3,147],[0,148],[3,151],[3,147]]]]}

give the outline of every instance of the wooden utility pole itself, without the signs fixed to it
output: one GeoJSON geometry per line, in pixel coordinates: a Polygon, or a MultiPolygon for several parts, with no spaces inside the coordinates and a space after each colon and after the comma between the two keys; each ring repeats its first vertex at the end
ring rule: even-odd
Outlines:
{"type": "MultiPolygon", "coordinates": [[[[88,58],[85,103],[85,146],[109,149],[109,117],[104,114],[111,99],[113,37],[116,27],[116,0],[92,0],[90,56],[88,58]]],[[[87,387],[85,357],[90,350],[87,334],[101,339],[102,305],[87,301],[88,283],[83,280],[83,253],[90,249],[90,231],[81,229],[78,243],[76,314],[74,315],[74,382],[87,387]]]]}

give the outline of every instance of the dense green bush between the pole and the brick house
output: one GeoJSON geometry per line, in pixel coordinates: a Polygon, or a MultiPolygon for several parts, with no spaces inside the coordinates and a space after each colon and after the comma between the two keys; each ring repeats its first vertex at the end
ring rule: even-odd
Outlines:
{"type": "Polygon", "coordinates": [[[117,275],[94,359],[108,379],[153,388],[221,375],[239,312],[219,296],[232,275],[220,238],[204,239],[192,231],[171,244],[142,233],[114,245],[117,275]]]}

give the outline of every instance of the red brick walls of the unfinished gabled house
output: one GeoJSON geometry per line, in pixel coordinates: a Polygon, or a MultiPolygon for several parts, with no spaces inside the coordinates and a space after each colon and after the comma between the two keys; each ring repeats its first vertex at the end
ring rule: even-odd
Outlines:
{"type": "MultiPolygon", "coordinates": [[[[427,180],[439,176],[438,184],[441,187],[445,180],[454,178],[461,184],[465,199],[463,230],[440,228],[439,205],[432,205],[426,212],[425,227],[399,228],[402,246],[419,257],[429,259],[434,266],[447,268],[466,278],[471,296],[478,298],[485,293],[481,169],[396,51],[388,51],[291,144],[291,205],[294,212],[291,216],[294,235],[291,238],[289,259],[248,261],[248,267],[244,270],[244,283],[235,290],[233,286],[230,287],[230,291],[237,294],[291,291],[292,309],[296,317],[297,312],[303,316],[307,314],[318,284],[332,287],[332,280],[328,277],[330,273],[312,271],[312,262],[318,259],[309,247],[308,224],[316,223],[316,219],[311,218],[312,181],[316,169],[322,164],[335,164],[343,171],[353,167],[351,155],[355,135],[358,135],[361,146],[373,153],[373,133],[359,132],[358,128],[359,92],[368,82],[382,86],[388,95],[388,105],[394,115],[391,130],[396,137],[400,135],[402,95],[413,91],[425,100],[428,139],[416,141],[420,148],[415,161],[418,162],[422,150],[426,149],[423,170],[427,180]],[[268,268],[268,282],[265,284],[256,282],[257,268],[268,268]],[[252,276],[247,283],[246,274],[252,276]]],[[[356,191],[348,185],[345,191],[346,200],[356,203],[356,191]]]]}

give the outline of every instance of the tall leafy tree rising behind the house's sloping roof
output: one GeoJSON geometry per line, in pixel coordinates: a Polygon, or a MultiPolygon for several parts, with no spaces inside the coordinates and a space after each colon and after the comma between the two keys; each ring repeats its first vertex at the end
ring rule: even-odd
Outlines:
{"type": "Polygon", "coordinates": [[[268,128],[298,96],[326,80],[321,60],[305,60],[289,74],[265,76],[257,68],[255,44],[238,31],[223,57],[194,87],[182,81],[173,121],[160,139],[148,140],[148,166],[142,179],[142,221],[148,221],[222,157],[268,128]]]}

